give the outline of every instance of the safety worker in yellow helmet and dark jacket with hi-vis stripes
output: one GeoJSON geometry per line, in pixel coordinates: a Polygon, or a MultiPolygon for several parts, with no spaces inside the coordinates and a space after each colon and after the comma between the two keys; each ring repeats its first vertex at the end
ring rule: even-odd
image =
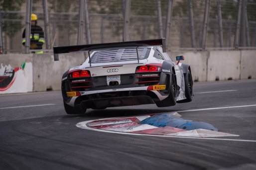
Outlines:
{"type": "MultiPolygon", "coordinates": [[[[22,33],[22,44],[25,45],[26,39],[25,39],[25,32],[26,29],[24,29],[22,33]]],[[[45,42],[44,40],[44,35],[43,35],[43,29],[37,25],[37,16],[36,14],[32,13],[31,14],[31,31],[30,31],[30,50],[41,50],[43,43],[45,42]]],[[[32,53],[36,54],[42,54],[43,51],[36,51],[32,53]]]]}

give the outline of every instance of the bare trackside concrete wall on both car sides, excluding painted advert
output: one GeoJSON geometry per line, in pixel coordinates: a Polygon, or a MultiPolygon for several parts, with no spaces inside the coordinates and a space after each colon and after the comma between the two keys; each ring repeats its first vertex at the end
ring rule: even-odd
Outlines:
{"type": "MultiPolygon", "coordinates": [[[[183,55],[181,63],[189,64],[194,81],[222,81],[256,79],[256,50],[240,51],[176,51],[169,53],[172,59],[183,55]]],[[[0,64],[19,67],[22,62],[32,63],[32,91],[60,90],[61,78],[69,68],[79,66],[85,53],[62,54],[54,62],[53,54],[4,54],[0,64]]]]}

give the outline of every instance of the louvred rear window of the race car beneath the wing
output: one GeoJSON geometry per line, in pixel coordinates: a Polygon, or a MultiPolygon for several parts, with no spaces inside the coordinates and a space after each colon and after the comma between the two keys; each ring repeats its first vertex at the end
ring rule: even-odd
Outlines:
{"type": "MultiPolygon", "coordinates": [[[[138,59],[143,60],[148,57],[150,48],[140,47],[138,49],[138,59]]],[[[97,51],[92,56],[92,63],[109,63],[137,60],[136,48],[122,48],[97,51]]]]}

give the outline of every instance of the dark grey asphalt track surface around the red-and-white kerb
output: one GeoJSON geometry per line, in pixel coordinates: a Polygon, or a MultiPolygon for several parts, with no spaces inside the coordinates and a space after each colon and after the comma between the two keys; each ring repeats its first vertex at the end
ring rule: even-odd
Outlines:
{"type": "Polygon", "coordinates": [[[60,91],[0,95],[0,170],[255,170],[256,80],[195,83],[194,91],[192,102],[172,107],[88,109],[85,115],[67,115],[60,91]],[[173,111],[240,136],[168,138],[76,127],[93,119],[173,111]]]}

